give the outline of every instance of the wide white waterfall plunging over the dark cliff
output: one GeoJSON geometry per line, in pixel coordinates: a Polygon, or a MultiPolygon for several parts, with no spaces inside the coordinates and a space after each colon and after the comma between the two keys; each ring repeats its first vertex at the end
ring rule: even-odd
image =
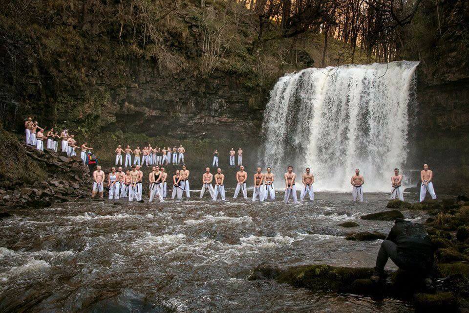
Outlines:
{"type": "MultiPolygon", "coordinates": [[[[310,167],[316,190],[389,192],[407,157],[408,112],[419,62],[307,68],[281,77],[264,112],[264,165],[277,181],[310,167]]],[[[277,183],[278,185],[279,183],[277,183]]]]}

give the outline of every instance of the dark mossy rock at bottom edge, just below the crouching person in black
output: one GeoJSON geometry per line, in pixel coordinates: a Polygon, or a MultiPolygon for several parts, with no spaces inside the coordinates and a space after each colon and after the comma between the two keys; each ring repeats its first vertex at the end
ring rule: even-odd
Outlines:
{"type": "Polygon", "coordinates": [[[458,301],[451,292],[416,293],[414,306],[415,312],[451,313],[458,311],[458,301]]]}

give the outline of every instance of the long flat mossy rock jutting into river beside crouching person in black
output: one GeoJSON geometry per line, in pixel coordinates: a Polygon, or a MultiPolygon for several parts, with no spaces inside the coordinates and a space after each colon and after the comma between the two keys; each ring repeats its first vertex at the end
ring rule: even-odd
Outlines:
{"type": "Polygon", "coordinates": [[[342,268],[329,265],[306,265],[289,268],[277,277],[277,282],[288,283],[315,291],[351,292],[352,283],[367,279],[372,268],[342,268]]]}

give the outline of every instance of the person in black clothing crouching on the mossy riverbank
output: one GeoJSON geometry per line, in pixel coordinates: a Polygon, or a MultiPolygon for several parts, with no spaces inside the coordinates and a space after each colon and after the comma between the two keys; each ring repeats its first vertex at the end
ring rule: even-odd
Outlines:
{"type": "Polygon", "coordinates": [[[384,277],[389,258],[400,269],[428,274],[433,266],[433,247],[424,225],[396,219],[386,240],[381,244],[371,280],[384,277]]]}

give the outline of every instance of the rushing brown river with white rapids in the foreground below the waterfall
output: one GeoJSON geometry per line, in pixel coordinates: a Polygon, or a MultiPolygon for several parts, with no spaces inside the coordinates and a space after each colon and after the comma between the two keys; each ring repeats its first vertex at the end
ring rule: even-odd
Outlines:
{"type": "Polygon", "coordinates": [[[385,194],[353,203],[350,194],[317,193],[297,205],[284,205],[281,196],[255,204],[84,200],[17,211],[0,222],[0,311],[412,311],[394,299],[248,281],[261,264],[372,267],[381,241],[346,241],[351,230],[337,224],[356,220],[360,231],[385,233],[393,224],[360,220],[384,209],[385,194]]]}

